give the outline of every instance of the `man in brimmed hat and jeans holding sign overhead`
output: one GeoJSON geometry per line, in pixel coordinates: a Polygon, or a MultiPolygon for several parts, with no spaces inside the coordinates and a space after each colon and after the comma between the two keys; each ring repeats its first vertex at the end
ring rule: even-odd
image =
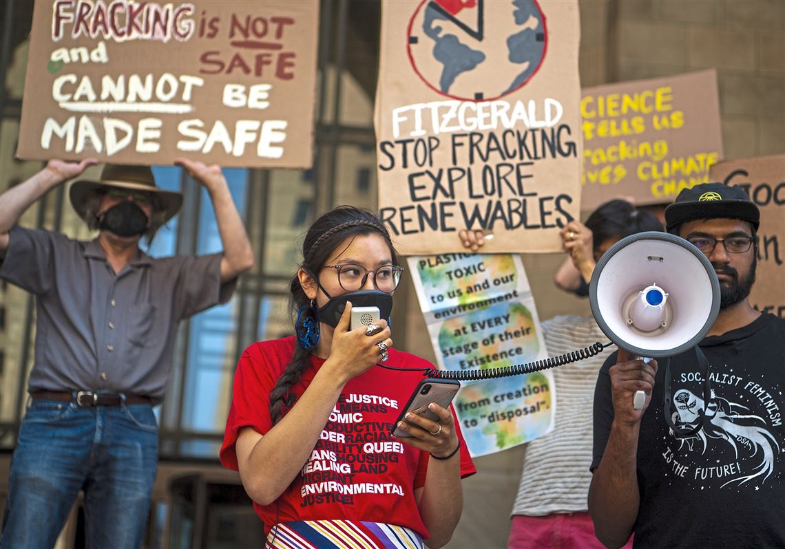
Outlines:
{"type": "Polygon", "coordinates": [[[35,295],[35,361],[14,450],[0,547],[53,547],[84,490],[88,547],[139,547],[158,462],[177,324],[232,296],[254,256],[218,166],[178,163],[210,194],[223,253],[155,259],[139,249],[182,203],[148,166],[106,165],[71,185],[97,238],[16,226],[93,160],[50,161],[0,195],[0,278],[35,295]]]}

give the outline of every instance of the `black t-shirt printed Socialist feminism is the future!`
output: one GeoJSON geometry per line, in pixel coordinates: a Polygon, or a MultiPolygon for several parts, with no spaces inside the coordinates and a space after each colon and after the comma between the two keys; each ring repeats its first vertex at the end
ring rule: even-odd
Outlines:
{"type": "MultiPolygon", "coordinates": [[[[674,437],[666,424],[666,359],[658,361],[638,440],[633,547],[785,547],[785,320],[761,314],[700,348],[710,364],[710,402],[694,350],[670,363],[674,424],[690,427],[706,413],[689,438],[674,437]]],[[[608,369],[615,362],[614,353],[597,380],[592,471],[613,421],[608,369]]]]}

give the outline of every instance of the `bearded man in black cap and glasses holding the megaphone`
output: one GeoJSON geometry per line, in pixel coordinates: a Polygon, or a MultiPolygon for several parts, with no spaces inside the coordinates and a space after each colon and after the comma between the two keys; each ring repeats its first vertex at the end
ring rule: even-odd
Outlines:
{"type": "MultiPolygon", "coordinates": [[[[758,263],[760,211],[741,187],[685,189],[665,210],[666,228],[692,242],[714,266],[720,312],[699,347],[709,362],[710,402],[694,351],[656,361],[623,351],[603,365],[594,398],[595,533],[619,547],[785,547],[785,321],[750,305],[758,263]],[[666,424],[671,385],[678,427],[666,424]],[[652,397],[633,408],[633,394],[652,397]]],[[[686,281],[685,281],[686,282],[686,281]]]]}

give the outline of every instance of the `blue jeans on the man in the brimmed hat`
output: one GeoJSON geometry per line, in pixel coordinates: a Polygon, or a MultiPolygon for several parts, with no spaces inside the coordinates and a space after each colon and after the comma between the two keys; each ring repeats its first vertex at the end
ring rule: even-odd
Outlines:
{"type": "Polygon", "coordinates": [[[11,460],[0,549],[53,547],[80,489],[86,547],[136,549],[157,467],[150,405],[32,402],[11,460]]]}

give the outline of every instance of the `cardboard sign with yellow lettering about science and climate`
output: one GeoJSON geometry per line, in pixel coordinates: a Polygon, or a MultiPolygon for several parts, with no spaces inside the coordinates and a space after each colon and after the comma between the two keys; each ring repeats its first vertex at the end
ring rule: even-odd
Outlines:
{"type": "Polygon", "coordinates": [[[722,158],[714,69],[583,90],[582,209],[673,202],[722,158]]]}

